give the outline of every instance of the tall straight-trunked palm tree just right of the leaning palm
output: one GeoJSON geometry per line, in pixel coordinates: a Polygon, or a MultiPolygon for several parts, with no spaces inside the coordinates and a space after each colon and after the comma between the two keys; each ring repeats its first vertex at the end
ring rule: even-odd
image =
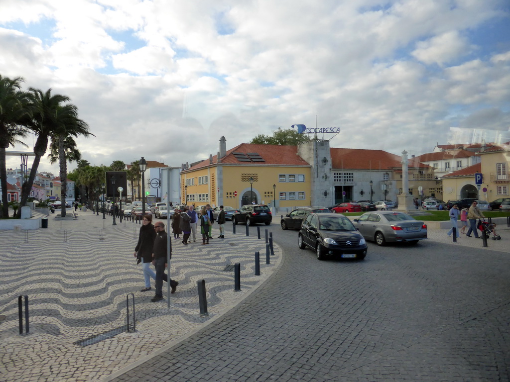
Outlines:
{"type": "MultiPolygon", "coordinates": [[[[67,157],[66,157],[66,140],[71,137],[89,137],[93,135],[89,132],[87,123],[78,118],[78,107],[73,104],[66,104],[64,106],[57,106],[56,115],[59,119],[59,124],[52,131],[52,142],[58,147],[59,168],[60,168],[60,182],[61,187],[61,212],[62,217],[65,213],[65,197],[67,191],[67,157]]],[[[69,142],[69,141],[67,141],[69,142]]],[[[74,142],[74,140],[72,140],[74,142]]],[[[75,143],[74,143],[75,145],[75,143]]]]}

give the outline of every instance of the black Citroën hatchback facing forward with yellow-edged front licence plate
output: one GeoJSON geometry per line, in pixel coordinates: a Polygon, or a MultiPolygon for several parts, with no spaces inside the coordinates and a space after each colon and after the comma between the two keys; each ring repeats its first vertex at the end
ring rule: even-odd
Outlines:
{"type": "Polygon", "coordinates": [[[315,251],[318,260],[326,256],[363,260],[367,243],[347,217],[337,213],[311,213],[301,224],[298,246],[315,251]]]}

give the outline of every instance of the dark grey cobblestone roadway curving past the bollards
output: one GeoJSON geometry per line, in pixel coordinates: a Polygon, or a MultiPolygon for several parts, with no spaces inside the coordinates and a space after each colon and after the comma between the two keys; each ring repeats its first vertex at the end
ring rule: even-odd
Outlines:
{"type": "Polygon", "coordinates": [[[430,230],[418,245],[370,243],[365,261],[284,245],[257,293],[105,380],[508,381],[510,231],[500,234],[482,248],[430,230]]]}

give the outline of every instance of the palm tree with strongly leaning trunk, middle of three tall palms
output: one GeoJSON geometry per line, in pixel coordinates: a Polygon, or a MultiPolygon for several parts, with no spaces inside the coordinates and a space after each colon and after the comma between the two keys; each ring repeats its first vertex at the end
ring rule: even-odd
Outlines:
{"type": "Polygon", "coordinates": [[[51,89],[42,92],[39,89],[29,88],[29,93],[32,119],[27,127],[37,135],[37,140],[34,145],[35,157],[29,179],[21,187],[20,206],[27,204],[39,163],[48,148],[49,137],[56,131],[57,127],[62,123],[61,120],[64,118],[62,114],[57,114],[57,108],[61,107],[64,102],[69,101],[69,97],[61,94],[52,95],[51,89]]]}

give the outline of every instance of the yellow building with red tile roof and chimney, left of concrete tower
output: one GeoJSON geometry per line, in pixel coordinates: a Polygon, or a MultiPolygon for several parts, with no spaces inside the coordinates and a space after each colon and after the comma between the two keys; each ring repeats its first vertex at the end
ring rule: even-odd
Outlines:
{"type": "Polygon", "coordinates": [[[267,204],[290,211],[310,206],[311,166],[296,146],[240,144],[181,172],[182,200],[195,206],[267,204]]]}

